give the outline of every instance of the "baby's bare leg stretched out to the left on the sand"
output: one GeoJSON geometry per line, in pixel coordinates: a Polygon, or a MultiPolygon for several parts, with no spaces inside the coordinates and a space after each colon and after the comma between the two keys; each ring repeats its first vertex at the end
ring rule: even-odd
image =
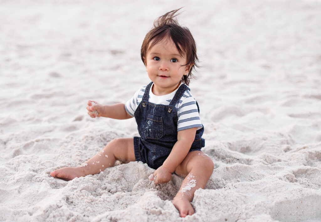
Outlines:
{"type": "Polygon", "coordinates": [[[135,161],[133,138],[118,138],[88,161],[77,167],[64,167],[50,173],[51,176],[72,180],[89,174],[96,174],[114,165],[116,160],[128,163],[135,161]]]}

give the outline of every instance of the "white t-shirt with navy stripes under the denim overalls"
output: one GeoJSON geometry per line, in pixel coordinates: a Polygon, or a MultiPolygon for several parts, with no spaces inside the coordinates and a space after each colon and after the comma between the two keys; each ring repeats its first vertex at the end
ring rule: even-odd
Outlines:
{"type": "MultiPolygon", "coordinates": [[[[133,95],[133,97],[126,102],[125,109],[129,115],[134,116],[134,112],[136,111],[139,103],[143,100],[145,89],[146,85],[141,86],[140,89],[133,95]]],[[[177,90],[178,89],[167,95],[157,96],[152,93],[151,87],[149,91],[148,102],[169,105],[177,90]]],[[[184,92],[178,103],[176,103],[175,107],[178,110],[177,131],[194,127],[201,129],[203,127],[197,110],[195,98],[191,95],[189,90],[184,92]]]]}

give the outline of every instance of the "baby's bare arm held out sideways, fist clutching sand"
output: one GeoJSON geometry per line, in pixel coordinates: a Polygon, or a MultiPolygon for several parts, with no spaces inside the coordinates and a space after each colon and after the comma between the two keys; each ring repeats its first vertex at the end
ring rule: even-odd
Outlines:
{"type": "Polygon", "coordinates": [[[112,119],[118,119],[118,120],[125,120],[132,118],[131,115],[129,115],[125,110],[125,104],[123,103],[117,103],[114,105],[101,105],[98,102],[89,100],[87,102],[87,110],[88,115],[90,115],[91,118],[95,117],[108,117],[112,119]],[[92,102],[94,104],[92,104],[92,102]],[[94,111],[98,112],[98,115],[94,113],[94,111]]]}

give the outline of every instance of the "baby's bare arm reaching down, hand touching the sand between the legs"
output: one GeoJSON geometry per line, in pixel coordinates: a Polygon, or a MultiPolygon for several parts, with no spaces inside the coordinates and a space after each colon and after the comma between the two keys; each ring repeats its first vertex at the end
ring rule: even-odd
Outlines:
{"type": "Polygon", "coordinates": [[[195,139],[196,127],[178,131],[177,142],[175,143],[169,156],[153,174],[155,183],[167,183],[172,177],[172,173],[179,164],[183,162],[195,139]]]}

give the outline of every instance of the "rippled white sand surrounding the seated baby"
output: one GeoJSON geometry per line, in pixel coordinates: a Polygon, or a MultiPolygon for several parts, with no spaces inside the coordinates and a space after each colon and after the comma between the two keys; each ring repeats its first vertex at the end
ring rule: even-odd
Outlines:
{"type": "Polygon", "coordinates": [[[0,1],[0,221],[320,221],[321,1],[0,1]],[[110,2],[110,3],[108,3],[110,2]],[[182,182],[142,163],[73,181],[134,119],[92,119],[149,83],[140,47],[153,20],[185,7],[202,69],[190,88],[214,163],[195,214],[182,182]]]}

